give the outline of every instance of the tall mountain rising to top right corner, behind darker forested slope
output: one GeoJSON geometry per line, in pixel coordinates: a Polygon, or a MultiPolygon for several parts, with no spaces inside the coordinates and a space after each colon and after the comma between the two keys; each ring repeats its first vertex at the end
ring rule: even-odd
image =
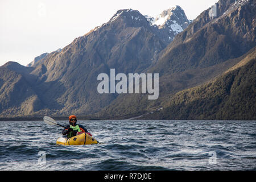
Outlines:
{"type": "Polygon", "coordinates": [[[219,1],[215,6],[216,16],[210,14],[212,7],[201,13],[148,68],[148,73],[159,73],[157,101],[143,94],[119,96],[97,116],[129,118],[164,109],[177,92],[204,84],[239,63],[256,46],[255,2],[219,1]]]}

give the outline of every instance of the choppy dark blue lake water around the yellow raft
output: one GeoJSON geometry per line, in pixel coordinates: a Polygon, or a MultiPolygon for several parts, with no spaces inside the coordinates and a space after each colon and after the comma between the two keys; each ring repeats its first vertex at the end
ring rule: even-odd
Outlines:
{"type": "Polygon", "coordinates": [[[57,146],[59,126],[1,122],[0,170],[256,170],[255,121],[78,123],[101,144],[57,146]]]}

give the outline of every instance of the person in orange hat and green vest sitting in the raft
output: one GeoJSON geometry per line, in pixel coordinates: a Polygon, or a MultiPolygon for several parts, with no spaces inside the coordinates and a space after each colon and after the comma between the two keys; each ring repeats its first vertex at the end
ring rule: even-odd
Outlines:
{"type": "Polygon", "coordinates": [[[84,126],[78,125],[78,124],[76,124],[76,122],[77,122],[76,116],[75,115],[70,115],[69,116],[69,125],[66,126],[67,129],[64,129],[62,131],[62,134],[67,135],[68,138],[76,136],[77,132],[84,132],[84,133],[87,133],[90,136],[92,136],[92,134],[90,134],[88,132],[88,130],[85,129],[84,126]]]}

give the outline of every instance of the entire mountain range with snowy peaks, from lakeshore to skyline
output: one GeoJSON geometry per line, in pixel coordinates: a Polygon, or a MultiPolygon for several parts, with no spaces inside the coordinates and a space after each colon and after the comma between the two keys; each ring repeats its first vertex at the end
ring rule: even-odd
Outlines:
{"type": "Polygon", "coordinates": [[[156,18],[118,10],[109,22],[39,58],[32,67],[13,62],[0,67],[0,116],[232,119],[221,114],[230,107],[233,114],[240,113],[234,114],[236,119],[254,118],[254,12],[250,0],[220,0],[193,22],[179,6],[156,18]],[[125,75],[159,73],[159,98],[98,93],[97,76],[110,75],[113,68],[125,75]],[[239,100],[239,90],[246,93],[241,100],[252,102],[239,100]],[[168,114],[172,109],[179,109],[176,115],[168,114]]]}

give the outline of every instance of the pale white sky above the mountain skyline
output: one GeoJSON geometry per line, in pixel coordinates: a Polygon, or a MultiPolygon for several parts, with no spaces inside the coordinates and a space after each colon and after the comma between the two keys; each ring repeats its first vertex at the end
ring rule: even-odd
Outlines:
{"type": "Polygon", "coordinates": [[[7,61],[27,65],[44,52],[70,44],[120,9],[155,17],[179,5],[195,19],[218,0],[0,0],[0,66],[7,61]]]}

